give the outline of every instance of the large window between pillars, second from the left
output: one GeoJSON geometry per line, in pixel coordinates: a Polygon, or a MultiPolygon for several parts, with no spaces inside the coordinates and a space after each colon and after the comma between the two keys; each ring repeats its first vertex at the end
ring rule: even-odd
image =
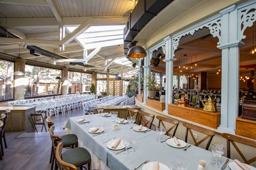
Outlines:
{"type": "Polygon", "coordinates": [[[25,65],[25,96],[61,94],[61,70],[25,65]]]}

